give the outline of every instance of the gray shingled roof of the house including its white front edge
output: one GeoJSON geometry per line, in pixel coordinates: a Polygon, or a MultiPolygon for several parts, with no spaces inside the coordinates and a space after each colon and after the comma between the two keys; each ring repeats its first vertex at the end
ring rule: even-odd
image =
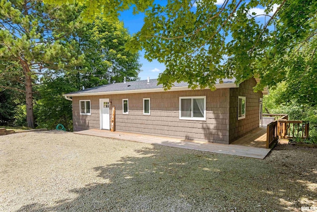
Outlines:
{"type": "MultiPolygon", "coordinates": [[[[216,82],[216,88],[230,88],[239,87],[235,84],[235,78],[223,79],[223,83],[216,82]]],[[[174,83],[169,91],[175,90],[191,90],[188,88],[187,82],[174,83]]],[[[101,85],[97,87],[87,88],[71,93],[64,94],[64,96],[88,96],[88,95],[102,95],[102,94],[119,94],[119,93],[145,93],[145,92],[161,92],[164,91],[163,85],[158,84],[157,79],[127,81],[101,85]]]]}

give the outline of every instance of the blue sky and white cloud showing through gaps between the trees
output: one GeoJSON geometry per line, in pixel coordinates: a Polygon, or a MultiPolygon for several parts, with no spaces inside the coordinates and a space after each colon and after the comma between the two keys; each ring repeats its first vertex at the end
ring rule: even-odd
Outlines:
{"type": "MultiPolygon", "coordinates": [[[[216,0],[215,4],[221,6],[224,0],[216,0]]],[[[165,0],[156,0],[156,3],[165,4],[165,0]]],[[[275,11],[277,5],[274,5],[273,11],[275,11]]],[[[273,11],[269,14],[273,14],[273,11]]],[[[256,14],[264,14],[263,7],[255,7],[251,9],[250,14],[255,12],[256,14]]],[[[143,18],[144,14],[139,13],[137,15],[132,14],[132,9],[124,11],[121,13],[119,19],[123,21],[124,26],[129,30],[130,34],[133,35],[134,33],[138,32],[143,26],[143,18]]],[[[263,16],[259,16],[257,19],[263,19],[263,16]]],[[[260,21],[263,21],[260,20],[260,21]]],[[[159,63],[158,61],[154,60],[152,62],[147,61],[144,58],[144,51],[140,53],[140,63],[142,64],[141,72],[139,73],[139,77],[142,79],[147,79],[149,76],[151,79],[158,78],[159,73],[165,70],[164,64],[159,63]]]]}

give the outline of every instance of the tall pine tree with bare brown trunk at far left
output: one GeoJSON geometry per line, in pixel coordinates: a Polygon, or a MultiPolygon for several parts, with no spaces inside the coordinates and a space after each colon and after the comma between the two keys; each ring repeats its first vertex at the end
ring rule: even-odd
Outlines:
{"type": "MultiPolygon", "coordinates": [[[[83,55],[75,40],[81,30],[80,7],[74,4],[52,6],[41,0],[0,0],[0,61],[14,68],[1,69],[1,77],[18,77],[25,93],[27,125],[34,128],[33,85],[38,76],[51,70],[78,65],[83,55]],[[22,78],[21,78],[22,76],[22,78]]],[[[14,88],[1,85],[5,88],[14,88]]]]}

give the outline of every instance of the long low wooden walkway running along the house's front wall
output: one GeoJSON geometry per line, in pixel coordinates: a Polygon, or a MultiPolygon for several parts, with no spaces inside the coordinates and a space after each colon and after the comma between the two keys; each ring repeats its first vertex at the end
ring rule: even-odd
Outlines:
{"type": "Polygon", "coordinates": [[[242,145],[228,145],[228,144],[219,144],[203,141],[187,141],[174,138],[158,137],[158,136],[149,136],[143,134],[134,134],[134,133],[124,133],[124,132],[110,132],[106,130],[85,130],[75,132],[76,134],[98,136],[104,138],[112,138],[126,141],[137,141],[145,142],[152,144],[159,144],[165,146],[195,149],[200,151],[209,151],[216,153],[224,153],[245,157],[253,157],[264,159],[268,154],[270,149],[266,148],[256,148],[251,146],[242,146],[242,145]]]}

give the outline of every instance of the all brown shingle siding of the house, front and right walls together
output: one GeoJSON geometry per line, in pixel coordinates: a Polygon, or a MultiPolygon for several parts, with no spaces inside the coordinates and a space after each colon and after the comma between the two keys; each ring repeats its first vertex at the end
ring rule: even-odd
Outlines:
{"type": "Polygon", "coordinates": [[[112,102],[110,119],[112,106],[115,106],[116,131],[228,144],[259,127],[259,98],[262,93],[253,92],[255,84],[252,78],[242,82],[239,88],[215,91],[205,89],[73,96],[74,131],[100,129],[99,99],[109,98],[112,102]],[[238,95],[246,96],[246,119],[239,121],[238,95]],[[183,96],[206,96],[206,121],[179,119],[179,97],[183,96]],[[151,99],[151,115],[143,115],[143,98],[151,99]],[[122,114],[122,99],[129,99],[129,114],[122,114]],[[91,100],[90,116],[80,115],[79,100],[91,100]]]}

